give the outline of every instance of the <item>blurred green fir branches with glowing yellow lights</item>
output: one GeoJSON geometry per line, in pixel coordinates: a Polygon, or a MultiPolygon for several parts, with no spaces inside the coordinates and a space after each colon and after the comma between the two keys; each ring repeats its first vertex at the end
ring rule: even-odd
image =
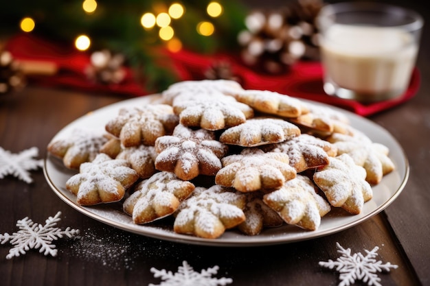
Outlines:
{"type": "Polygon", "coordinates": [[[160,47],[234,51],[245,14],[239,1],[12,1],[0,10],[0,32],[31,33],[74,45],[82,53],[121,53],[146,89],[161,91],[177,78],[160,47]]]}

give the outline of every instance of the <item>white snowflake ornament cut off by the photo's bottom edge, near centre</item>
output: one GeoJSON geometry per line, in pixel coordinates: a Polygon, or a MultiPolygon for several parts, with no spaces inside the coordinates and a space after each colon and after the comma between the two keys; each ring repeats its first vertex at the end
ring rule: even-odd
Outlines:
{"type": "Polygon", "coordinates": [[[218,269],[219,267],[216,265],[202,270],[201,273],[195,272],[187,261],[182,262],[182,266],[179,266],[178,272],[175,274],[152,267],[150,271],[154,273],[154,277],[160,277],[163,282],[159,285],[150,284],[148,286],[224,286],[233,282],[231,278],[212,278],[212,274],[216,274],[218,269]]]}

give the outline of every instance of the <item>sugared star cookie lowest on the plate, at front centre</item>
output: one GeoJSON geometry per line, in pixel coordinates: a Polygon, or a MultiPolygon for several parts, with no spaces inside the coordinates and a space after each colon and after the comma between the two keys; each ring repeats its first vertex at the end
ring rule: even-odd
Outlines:
{"type": "Polygon", "coordinates": [[[216,239],[225,230],[245,221],[242,208],[245,195],[214,185],[209,189],[196,187],[179,206],[174,219],[175,233],[216,239]]]}

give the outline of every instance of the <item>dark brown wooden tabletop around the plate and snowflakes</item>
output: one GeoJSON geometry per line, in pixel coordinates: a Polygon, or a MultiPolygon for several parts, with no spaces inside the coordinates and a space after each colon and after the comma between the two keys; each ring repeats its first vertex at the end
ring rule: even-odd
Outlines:
{"type": "MultiPolygon", "coordinates": [[[[422,11],[427,15],[427,10],[422,11]]],[[[55,241],[57,257],[30,250],[8,260],[10,244],[0,245],[0,285],[159,284],[151,267],[177,272],[183,261],[196,272],[218,265],[214,277],[232,278],[231,285],[337,285],[339,273],[318,264],[339,257],[336,242],[353,253],[378,246],[377,260],[398,265],[396,270],[378,274],[382,285],[430,285],[429,37],[425,30],[418,59],[422,84],[416,97],[370,117],[393,134],[410,164],[404,191],[385,211],[340,233],[297,243],[253,248],[192,246],[127,233],[82,215],[55,195],[43,171],[32,171],[31,184],[12,176],[0,179],[0,233],[16,231],[16,221],[23,217],[43,224],[61,211],[58,226],[78,228],[80,237],[55,241]]],[[[47,144],[65,125],[122,99],[38,86],[2,96],[0,147],[16,153],[36,146],[38,158],[45,158],[47,144]]]]}

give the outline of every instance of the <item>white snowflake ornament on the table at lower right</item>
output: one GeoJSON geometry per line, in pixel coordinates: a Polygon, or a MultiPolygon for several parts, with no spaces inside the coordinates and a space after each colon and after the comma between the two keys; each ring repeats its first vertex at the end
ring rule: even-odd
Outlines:
{"type": "Polygon", "coordinates": [[[330,269],[336,268],[336,271],[340,273],[339,286],[349,286],[355,283],[356,280],[367,282],[367,285],[381,286],[381,278],[378,277],[376,272],[387,271],[390,268],[396,269],[398,266],[391,263],[382,264],[382,261],[376,261],[375,257],[378,256],[378,246],[371,251],[365,250],[367,253],[364,256],[361,253],[354,253],[351,255],[350,248],[343,248],[338,242],[336,243],[337,252],[341,253],[342,256],[336,261],[329,259],[328,261],[319,261],[319,265],[328,267],[330,269]]]}

